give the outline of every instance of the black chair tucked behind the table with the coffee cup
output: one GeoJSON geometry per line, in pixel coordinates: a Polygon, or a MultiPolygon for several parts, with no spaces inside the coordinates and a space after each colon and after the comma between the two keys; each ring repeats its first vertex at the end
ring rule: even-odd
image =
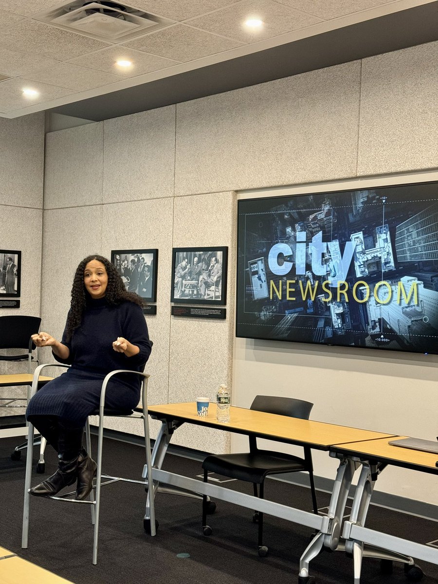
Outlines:
{"type": "MultiPolygon", "coordinates": [[[[308,420],[313,404],[302,399],[257,395],[252,402],[251,409],[259,412],[276,413],[291,418],[308,420]]],[[[283,472],[306,471],[309,473],[312,505],[314,513],[318,513],[317,495],[313,477],[312,455],[310,448],[304,446],[304,458],[291,454],[284,454],[272,450],[259,450],[256,436],[249,437],[249,453],[238,454],[210,454],[204,460],[204,482],[207,482],[208,472],[216,472],[225,477],[239,481],[252,482],[254,496],[263,499],[263,482],[268,475],[277,475],[283,472]],[[259,486],[259,495],[257,494],[259,486]]],[[[265,557],[267,547],[263,545],[263,513],[255,512],[253,522],[259,523],[259,556],[265,557]]],[[[204,536],[211,534],[211,527],[207,525],[207,497],[203,496],[202,525],[204,536]]]]}

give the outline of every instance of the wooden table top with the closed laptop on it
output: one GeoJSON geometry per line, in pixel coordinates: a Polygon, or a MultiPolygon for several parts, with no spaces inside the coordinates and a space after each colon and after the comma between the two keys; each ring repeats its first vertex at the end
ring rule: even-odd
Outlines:
{"type": "MultiPolygon", "coordinates": [[[[407,438],[408,436],[397,436],[395,439],[407,438]]],[[[395,466],[404,468],[415,468],[425,472],[438,474],[438,468],[435,463],[438,455],[422,450],[413,450],[388,444],[388,440],[394,440],[394,437],[388,439],[371,440],[369,442],[352,442],[350,444],[335,444],[332,449],[341,454],[356,455],[359,458],[374,457],[381,462],[387,461],[395,466]]]]}

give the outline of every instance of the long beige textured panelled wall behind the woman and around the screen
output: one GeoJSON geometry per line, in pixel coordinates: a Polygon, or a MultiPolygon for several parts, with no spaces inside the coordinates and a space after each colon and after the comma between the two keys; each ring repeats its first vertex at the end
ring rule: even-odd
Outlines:
{"type": "MultiPolygon", "coordinates": [[[[437,49],[430,43],[48,134],[44,326],[61,334],[69,278],[87,253],[157,247],[150,402],[213,397],[219,383],[231,385],[233,192],[438,167],[437,49]],[[171,249],[186,245],[229,246],[225,321],[171,317],[171,249]]],[[[245,388],[233,392],[237,401],[245,388]]],[[[134,422],[109,423],[138,432],[134,422]]],[[[220,451],[229,439],[183,426],[173,442],[220,451]]]]}

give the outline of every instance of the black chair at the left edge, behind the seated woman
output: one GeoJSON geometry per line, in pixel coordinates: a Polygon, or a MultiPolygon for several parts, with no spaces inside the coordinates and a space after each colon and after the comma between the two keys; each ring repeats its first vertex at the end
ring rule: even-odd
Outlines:
{"type": "MultiPolygon", "coordinates": [[[[39,317],[27,317],[22,315],[0,317],[0,350],[12,349],[13,354],[0,353],[0,361],[24,362],[27,361],[27,373],[32,374],[32,363],[38,364],[38,356],[33,356],[36,346],[31,335],[40,330],[41,319],[39,317]],[[18,351],[19,350],[19,351],[18,351]],[[25,352],[26,350],[26,352],[25,352]]],[[[10,371],[8,371],[10,373],[10,371]]],[[[25,408],[29,401],[30,386],[27,397],[6,397],[0,395],[0,408],[25,408]],[[25,402],[25,403],[23,403],[25,402]]],[[[34,444],[39,443],[37,439],[34,444]]],[[[19,460],[21,451],[27,447],[27,442],[20,444],[11,454],[12,460],[19,460]]]]}

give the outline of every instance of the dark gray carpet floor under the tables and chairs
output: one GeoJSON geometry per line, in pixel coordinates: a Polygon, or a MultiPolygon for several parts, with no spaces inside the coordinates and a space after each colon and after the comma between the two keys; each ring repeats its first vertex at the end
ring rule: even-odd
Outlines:
{"type": "MultiPolygon", "coordinates": [[[[104,488],[101,505],[98,565],[92,565],[93,529],[89,506],[70,505],[49,499],[31,498],[29,547],[22,550],[22,505],[25,456],[12,461],[17,439],[0,440],[0,545],[75,584],[249,584],[298,582],[300,555],[311,530],[274,517],[265,517],[265,543],[269,555],[259,558],[257,526],[252,512],[219,501],[208,523],[210,537],[201,530],[198,500],[160,493],[156,500],[159,521],[157,536],[143,529],[145,492],[141,485],[117,483],[104,488]]],[[[35,451],[36,456],[36,451],[35,451]]],[[[46,454],[46,476],[56,468],[55,453],[46,454]]],[[[105,439],[104,469],[141,479],[144,453],[140,446],[105,439]]],[[[35,458],[36,462],[36,458],[35,458]]],[[[164,468],[189,477],[201,474],[199,461],[168,455],[164,468]]],[[[33,475],[33,484],[44,475],[33,475]]],[[[248,493],[252,486],[239,482],[230,488],[248,493]]],[[[269,480],[265,497],[311,510],[307,488],[269,480]]],[[[327,493],[318,493],[319,507],[327,506],[327,493]]],[[[367,526],[397,534],[420,543],[438,540],[438,523],[371,505],[367,526]]],[[[419,562],[423,582],[438,584],[438,566],[419,562]]],[[[352,584],[353,562],[343,552],[323,552],[310,565],[319,584],[352,584]]],[[[380,562],[364,559],[363,584],[402,584],[403,566],[394,564],[390,575],[381,573],[380,562]]],[[[0,582],[1,563],[0,563],[0,582]]],[[[25,584],[25,583],[23,583],[25,584]]],[[[43,584],[43,583],[41,583],[43,584]]]]}

